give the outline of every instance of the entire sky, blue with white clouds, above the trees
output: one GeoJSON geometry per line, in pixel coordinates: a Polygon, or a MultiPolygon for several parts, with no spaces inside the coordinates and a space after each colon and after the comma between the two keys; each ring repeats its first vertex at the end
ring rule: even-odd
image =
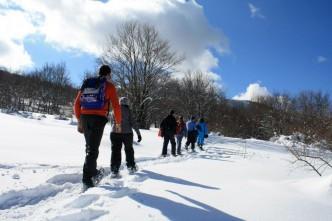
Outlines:
{"type": "Polygon", "coordinates": [[[186,53],[182,68],[207,72],[227,97],[302,90],[332,95],[332,1],[104,2],[0,2],[0,26],[8,30],[0,37],[0,66],[31,70],[65,62],[80,84],[84,71],[96,69],[105,28],[113,33],[129,18],[156,25],[173,48],[186,53]]]}

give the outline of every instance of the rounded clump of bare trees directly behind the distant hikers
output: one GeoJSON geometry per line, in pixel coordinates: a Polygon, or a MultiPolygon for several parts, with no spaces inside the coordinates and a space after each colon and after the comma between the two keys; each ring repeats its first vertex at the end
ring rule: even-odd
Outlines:
{"type": "Polygon", "coordinates": [[[209,121],[210,129],[217,130],[220,125],[221,118],[216,112],[220,109],[224,96],[201,71],[188,71],[182,79],[165,80],[158,91],[158,97],[160,100],[154,113],[157,122],[173,109],[185,119],[192,115],[204,117],[209,121]]]}

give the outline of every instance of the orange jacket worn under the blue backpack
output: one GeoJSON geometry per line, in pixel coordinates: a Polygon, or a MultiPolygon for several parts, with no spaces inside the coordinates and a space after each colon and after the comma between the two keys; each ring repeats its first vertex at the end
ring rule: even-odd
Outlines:
{"type": "Polygon", "coordinates": [[[116,124],[121,124],[121,108],[119,105],[118,95],[116,93],[116,89],[114,85],[108,81],[106,81],[106,89],[105,89],[105,105],[102,109],[94,110],[94,109],[84,109],[81,107],[81,90],[78,92],[75,103],[74,103],[74,113],[77,119],[80,119],[81,114],[87,115],[98,115],[98,116],[108,116],[108,112],[110,111],[110,103],[112,103],[114,118],[116,124]]]}

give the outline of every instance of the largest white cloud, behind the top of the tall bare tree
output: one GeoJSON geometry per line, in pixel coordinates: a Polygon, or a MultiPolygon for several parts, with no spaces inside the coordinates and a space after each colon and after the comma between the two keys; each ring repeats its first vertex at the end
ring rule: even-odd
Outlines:
{"type": "MultiPolygon", "coordinates": [[[[182,70],[209,72],[218,66],[217,57],[209,49],[220,54],[230,51],[226,36],[209,25],[203,8],[195,0],[3,0],[0,8],[1,4],[7,10],[19,8],[17,14],[29,16],[26,22],[33,30],[21,30],[20,41],[27,35],[38,34],[60,50],[74,49],[98,56],[106,36],[115,34],[120,23],[138,20],[154,25],[173,49],[184,54],[182,70]]],[[[13,27],[19,27],[17,19],[12,22],[13,27]]],[[[10,39],[14,36],[11,34],[10,39]]]]}

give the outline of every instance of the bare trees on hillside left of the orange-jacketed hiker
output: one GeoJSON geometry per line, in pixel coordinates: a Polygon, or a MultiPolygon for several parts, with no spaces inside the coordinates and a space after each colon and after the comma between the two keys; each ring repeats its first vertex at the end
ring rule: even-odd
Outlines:
{"type": "Polygon", "coordinates": [[[63,114],[74,96],[64,63],[45,64],[23,75],[0,70],[0,108],[8,111],[63,114]]]}

